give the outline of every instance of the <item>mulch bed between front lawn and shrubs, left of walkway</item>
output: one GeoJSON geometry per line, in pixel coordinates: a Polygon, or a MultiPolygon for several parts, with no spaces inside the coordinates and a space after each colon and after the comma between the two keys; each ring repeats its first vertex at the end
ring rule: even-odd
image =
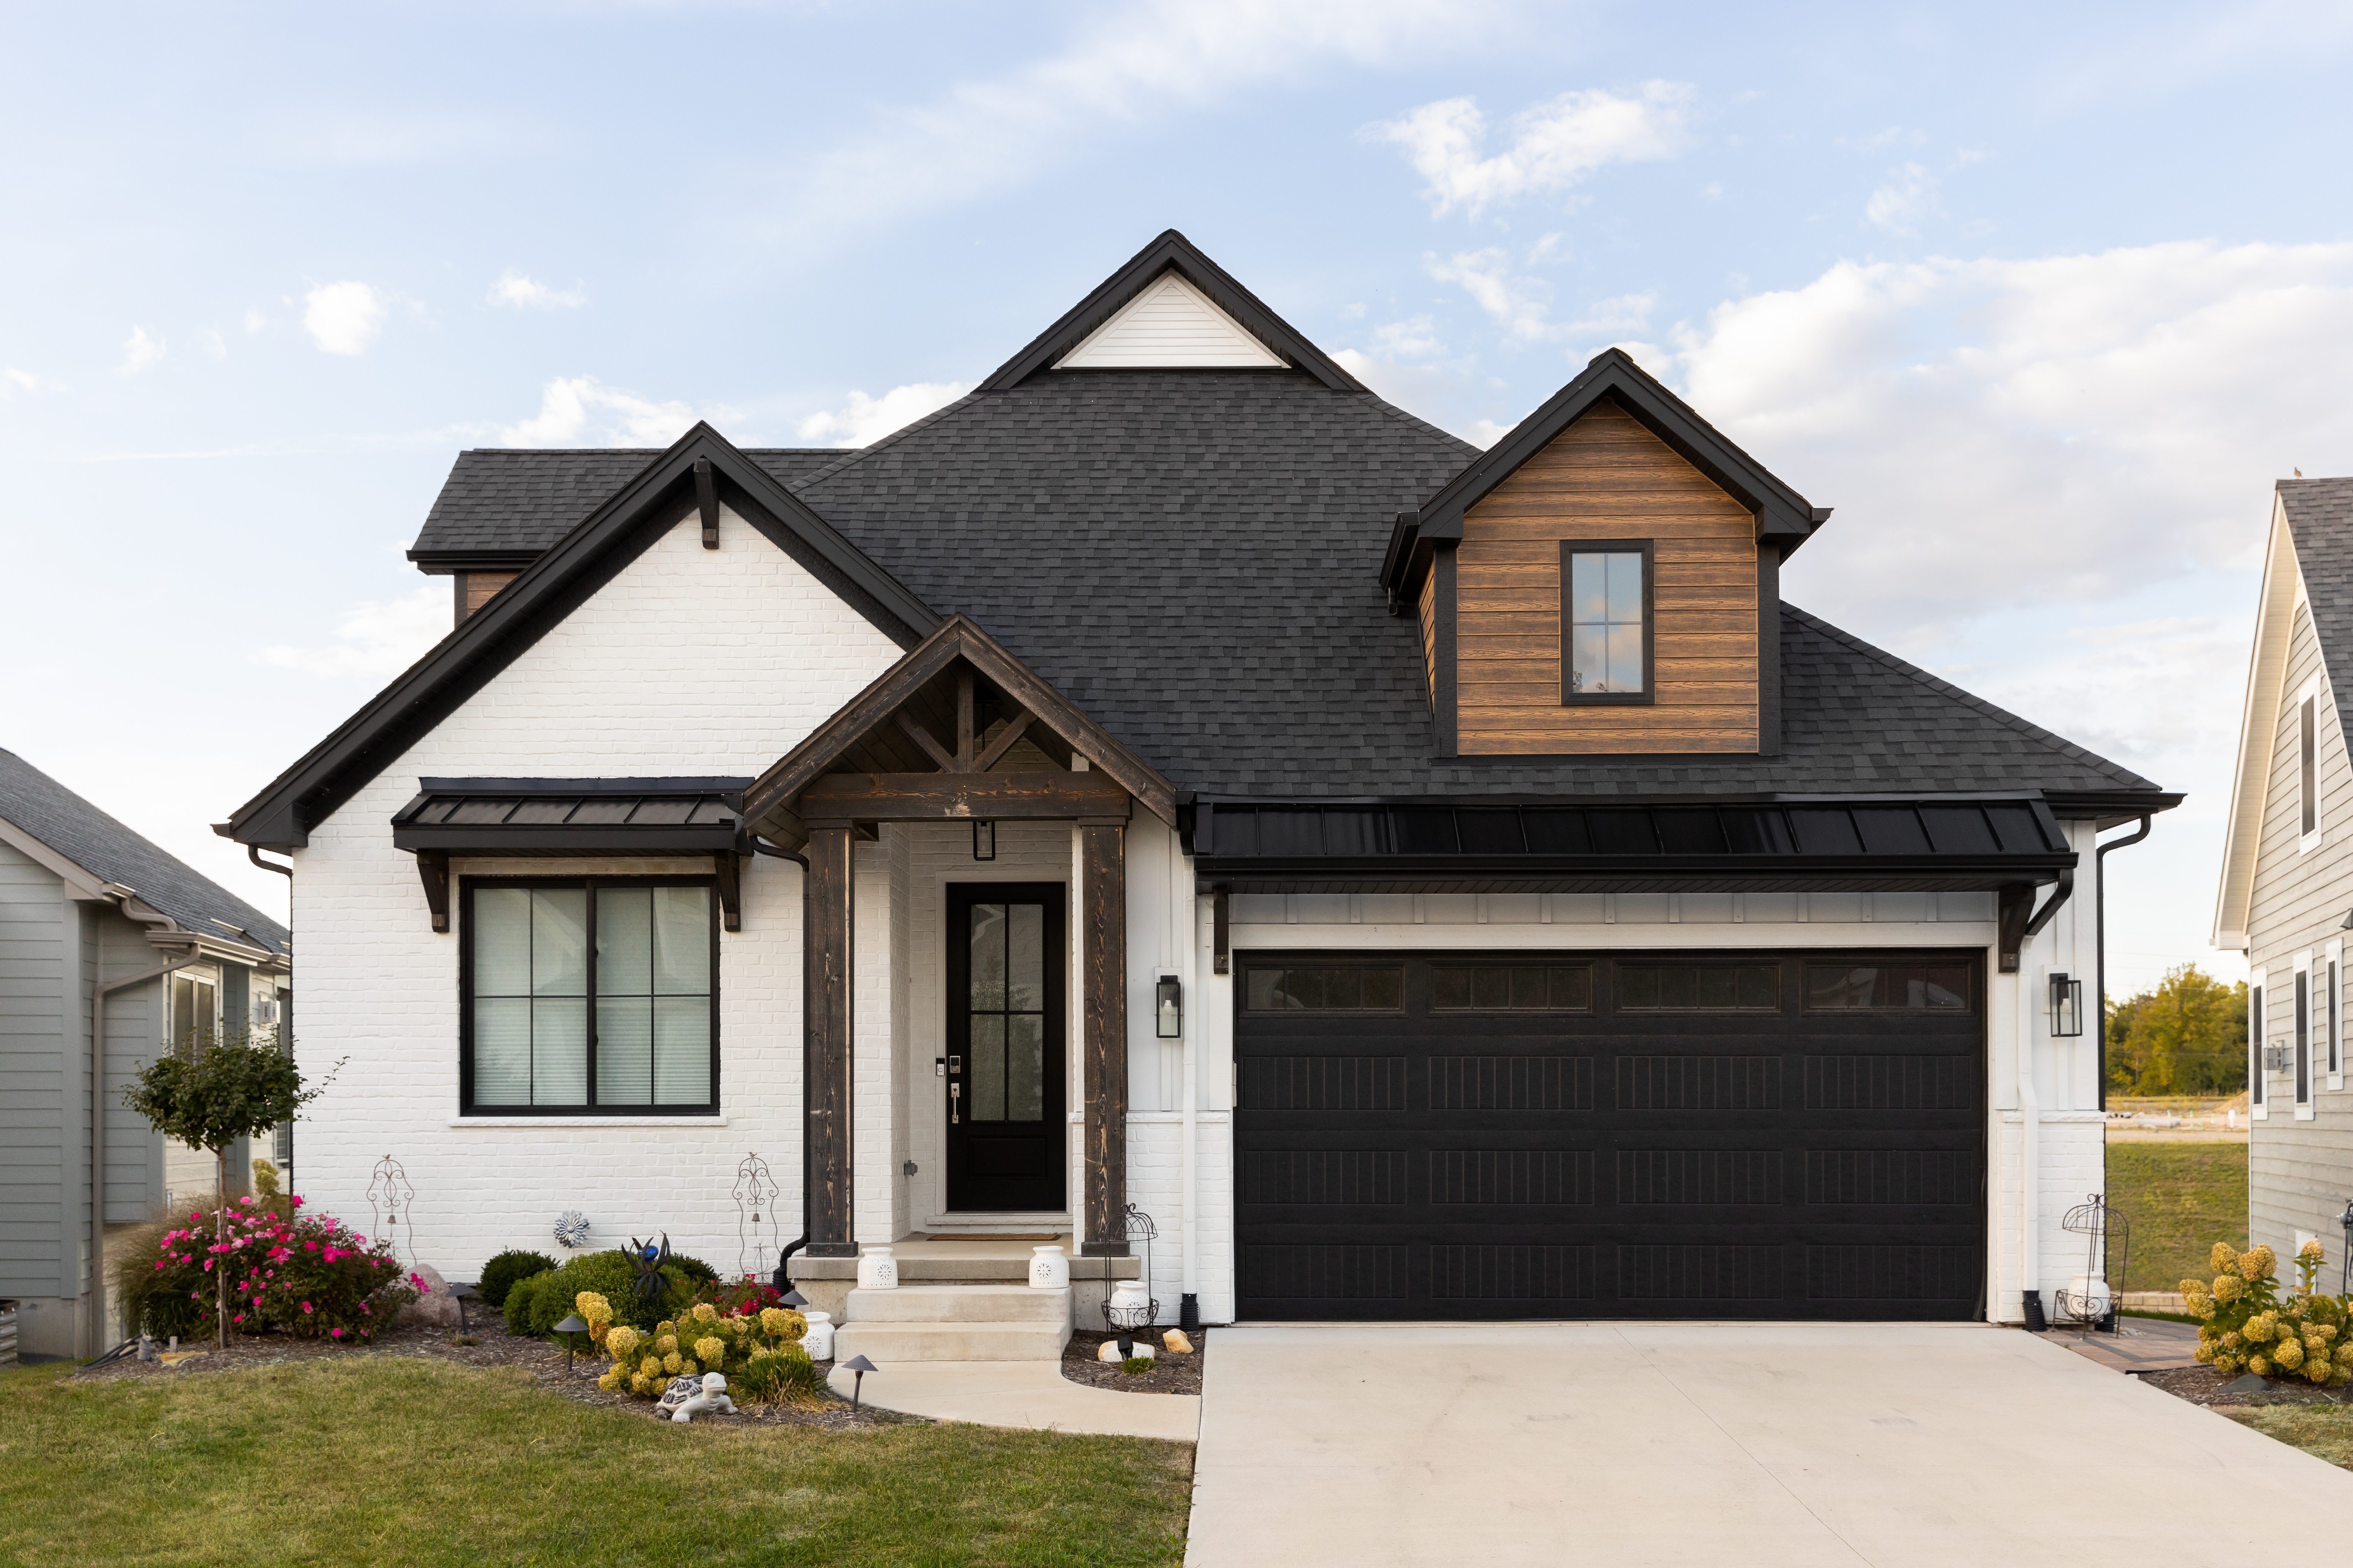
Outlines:
{"type": "MultiPolygon", "coordinates": [[[[179,1378],[191,1373],[233,1373],[259,1366],[287,1366],[294,1361],[325,1361],[344,1359],[360,1361],[367,1356],[431,1356],[435,1361],[456,1361],[461,1366],[513,1366],[532,1378],[539,1387],[562,1394],[565,1399],[579,1401],[584,1406],[609,1406],[654,1420],[654,1401],[635,1399],[631,1394],[607,1394],[595,1385],[605,1373],[609,1361],[602,1352],[591,1349],[588,1354],[574,1356],[572,1373],[565,1373],[565,1352],[546,1340],[532,1340],[525,1335],[511,1335],[499,1326],[496,1316],[487,1324],[473,1326],[475,1345],[459,1345],[459,1333],[454,1328],[435,1328],[431,1324],[400,1324],[386,1333],[379,1333],[372,1345],[334,1345],[329,1340],[296,1340],[292,1335],[264,1333],[264,1335],[231,1335],[228,1349],[212,1349],[212,1354],[181,1361],[179,1366],[162,1366],[158,1361],[134,1361],[125,1356],[108,1366],[85,1368],[75,1373],[75,1380],[111,1382],[122,1378],[179,1378]]],[[[202,1340],[188,1349],[209,1349],[212,1342],[202,1340]]],[[[816,1363],[819,1373],[831,1373],[831,1361],[816,1363]]],[[[1120,1368],[1111,1368],[1113,1375],[1120,1368]]],[[[1195,1378],[1198,1387],[1198,1378],[1195,1378]]],[[[920,1422],[918,1415],[899,1415],[896,1410],[875,1410],[873,1406],[859,1406],[856,1415],[849,1413],[849,1401],[835,1399],[833,1392],[821,1392],[814,1403],[744,1403],[734,1415],[696,1415],[692,1425],[715,1425],[715,1427],[821,1427],[828,1432],[840,1432],[847,1427],[894,1427],[904,1422],[920,1422]]]]}

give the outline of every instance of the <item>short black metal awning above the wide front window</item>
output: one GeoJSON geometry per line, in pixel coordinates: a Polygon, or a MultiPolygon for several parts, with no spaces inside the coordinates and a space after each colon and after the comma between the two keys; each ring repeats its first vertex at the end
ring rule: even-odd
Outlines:
{"type": "Polygon", "coordinates": [[[751,778],[419,778],[393,846],[449,856],[706,856],[736,844],[751,778]]]}

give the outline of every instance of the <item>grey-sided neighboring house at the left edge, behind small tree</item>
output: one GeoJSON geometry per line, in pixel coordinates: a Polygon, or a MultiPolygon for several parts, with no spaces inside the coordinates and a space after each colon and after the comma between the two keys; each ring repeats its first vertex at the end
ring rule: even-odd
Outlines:
{"type": "MultiPolygon", "coordinates": [[[[26,1354],[111,1345],[113,1314],[92,1288],[104,1258],[94,1229],[209,1201],[219,1185],[212,1154],[158,1135],[125,1110],[122,1086],[167,1048],[275,1030],[289,961],[275,919],[0,752],[0,1298],[19,1302],[26,1354]],[[92,1117],[92,1088],[104,1117],[92,1117]],[[92,1152],[104,1164],[96,1220],[92,1152]]],[[[233,1187],[249,1154],[233,1150],[233,1187]]]]}

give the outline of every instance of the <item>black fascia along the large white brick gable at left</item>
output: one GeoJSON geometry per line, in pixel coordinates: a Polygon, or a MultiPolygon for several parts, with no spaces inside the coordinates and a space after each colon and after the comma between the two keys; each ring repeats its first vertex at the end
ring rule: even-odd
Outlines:
{"type": "Polygon", "coordinates": [[[261,849],[308,844],[315,823],[322,823],[393,757],[449,717],[579,609],[588,595],[609,583],[671,524],[682,520],[694,508],[696,458],[708,458],[732,491],[744,494],[758,512],[774,520],[774,524],[762,524],[760,517],[746,512],[772,543],[788,552],[798,543],[828,562],[868,599],[868,604],[859,604],[868,618],[875,618],[875,607],[887,611],[887,618],[875,621],[887,637],[908,646],[939,625],[941,618],[929,604],[871,562],[727,437],[708,423],[696,423],[496,592],[489,604],[466,616],[433,651],[369,698],[360,712],[311,748],[261,795],[238,806],[214,832],[261,849]],[[791,531],[793,543],[779,538],[772,527],[791,531]]]}

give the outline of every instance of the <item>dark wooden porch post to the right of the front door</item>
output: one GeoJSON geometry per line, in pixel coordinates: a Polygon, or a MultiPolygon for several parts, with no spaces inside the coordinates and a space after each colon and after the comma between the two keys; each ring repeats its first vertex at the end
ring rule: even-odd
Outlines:
{"type": "Polygon", "coordinates": [[[1080,825],[1080,976],[1087,1258],[1127,1255],[1127,830],[1080,825]]]}

